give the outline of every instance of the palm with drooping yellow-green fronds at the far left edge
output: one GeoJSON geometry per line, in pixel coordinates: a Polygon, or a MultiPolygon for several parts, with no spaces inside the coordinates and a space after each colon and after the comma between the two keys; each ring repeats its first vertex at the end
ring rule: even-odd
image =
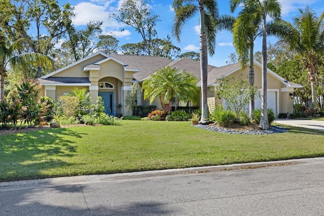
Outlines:
{"type": "MultiPolygon", "coordinates": [[[[0,32],[1,34],[1,32],[0,32]]],[[[44,66],[53,68],[52,62],[46,55],[39,53],[24,53],[27,41],[24,38],[13,42],[9,47],[6,45],[6,38],[0,35],[0,101],[5,99],[5,77],[7,66],[44,66]]]]}

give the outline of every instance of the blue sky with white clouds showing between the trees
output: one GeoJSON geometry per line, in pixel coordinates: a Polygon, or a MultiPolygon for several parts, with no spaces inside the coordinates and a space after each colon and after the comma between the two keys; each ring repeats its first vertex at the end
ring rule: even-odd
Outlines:
{"type": "MultiPolygon", "coordinates": [[[[60,5],[69,3],[74,7],[75,18],[72,20],[76,27],[82,28],[89,21],[103,21],[103,34],[109,34],[119,40],[119,46],[138,43],[142,41],[142,37],[132,27],[118,23],[109,16],[117,13],[124,0],[59,0],[60,5]],[[121,31],[124,29],[124,31],[121,31]]],[[[281,4],[281,18],[291,22],[292,18],[299,14],[298,9],[305,9],[308,5],[313,9],[317,16],[324,11],[324,0],[278,0],[281,4]]],[[[218,0],[218,8],[220,15],[235,16],[240,7],[230,13],[229,0],[218,0]]],[[[156,23],[156,31],[158,38],[167,38],[169,35],[176,47],[181,49],[181,53],[194,51],[199,53],[199,15],[191,18],[184,26],[181,32],[180,42],[178,42],[172,34],[172,24],[174,18],[174,10],[172,8],[173,0],[151,0],[150,6],[152,12],[159,16],[160,21],[156,23]]],[[[277,41],[275,37],[268,37],[268,42],[274,44],[277,41]]],[[[261,51],[262,39],[255,41],[255,52],[261,51]]],[[[229,55],[235,52],[232,45],[232,34],[228,31],[219,32],[216,35],[216,49],[213,56],[209,56],[208,64],[221,67],[226,65],[229,55]]]]}

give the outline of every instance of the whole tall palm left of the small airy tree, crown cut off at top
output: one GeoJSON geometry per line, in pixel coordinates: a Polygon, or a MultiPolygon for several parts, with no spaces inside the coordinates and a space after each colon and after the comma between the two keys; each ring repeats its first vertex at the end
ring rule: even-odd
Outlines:
{"type": "Polygon", "coordinates": [[[216,46],[216,21],[218,19],[218,5],[216,0],[174,0],[175,10],[173,35],[180,42],[181,29],[185,23],[197,12],[200,15],[200,76],[201,76],[201,120],[205,123],[208,118],[207,105],[207,76],[208,52],[212,56],[216,46]]]}

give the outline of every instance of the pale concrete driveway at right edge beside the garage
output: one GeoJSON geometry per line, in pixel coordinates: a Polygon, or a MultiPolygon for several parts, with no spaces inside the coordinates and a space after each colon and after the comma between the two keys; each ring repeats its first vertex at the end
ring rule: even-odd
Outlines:
{"type": "Polygon", "coordinates": [[[305,127],[310,129],[319,129],[324,131],[324,121],[302,120],[302,119],[275,119],[273,122],[278,124],[286,124],[296,127],[305,127]]]}

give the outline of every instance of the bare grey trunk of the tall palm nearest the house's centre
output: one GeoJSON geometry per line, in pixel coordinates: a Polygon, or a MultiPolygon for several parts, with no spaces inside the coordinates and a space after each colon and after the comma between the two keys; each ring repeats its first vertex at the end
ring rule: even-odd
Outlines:
{"type": "Polygon", "coordinates": [[[201,118],[199,123],[209,121],[207,105],[208,53],[204,10],[200,9],[200,75],[201,75],[201,118]]]}

